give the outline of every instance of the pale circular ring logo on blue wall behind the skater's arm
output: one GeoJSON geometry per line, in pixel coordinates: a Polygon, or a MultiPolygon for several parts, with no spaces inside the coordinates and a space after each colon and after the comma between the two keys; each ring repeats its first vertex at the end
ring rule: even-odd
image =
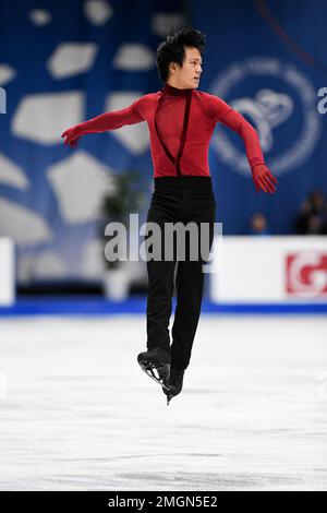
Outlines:
{"type": "MultiPolygon", "coordinates": [[[[322,127],[316,91],[293,64],[267,57],[235,62],[218,75],[210,93],[221,97],[255,127],[267,165],[275,175],[298,168],[312,155],[322,127]],[[267,79],[268,86],[251,95],[240,94],[246,86],[251,88],[252,83],[267,79]],[[278,142],[278,131],[282,144],[278,142]]],[[[249,176],[244,151],[225,131],[214,134],[213,147],[223,164],[249,176]]]]}

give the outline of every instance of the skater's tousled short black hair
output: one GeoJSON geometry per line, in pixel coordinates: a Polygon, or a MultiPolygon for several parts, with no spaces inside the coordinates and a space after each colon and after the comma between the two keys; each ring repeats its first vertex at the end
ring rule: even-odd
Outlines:
{"type": "Polygon", "coordinates": [[[173,28],[171,29],[170,35],[157,48],[156,64],[162,82],[168,80],[170,62],[177,62],[180,67],[183,65],[185,46],[195,47],[203,55],[206,48],[206,35],[191,26],[175,33],[173,33],[173,28]]]}

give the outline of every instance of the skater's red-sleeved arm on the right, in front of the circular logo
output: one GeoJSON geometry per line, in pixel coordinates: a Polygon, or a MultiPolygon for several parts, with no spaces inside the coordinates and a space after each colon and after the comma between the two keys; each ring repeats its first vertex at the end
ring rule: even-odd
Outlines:
{"type": "Polygon", "coordinates": [[[216,122],[221,122],[243,139],[255,190],[275,192],[277,180],[265,164],[258,134],[254,127],[240,112],[214,95],[207,95],[207,111],[216,122]]]}

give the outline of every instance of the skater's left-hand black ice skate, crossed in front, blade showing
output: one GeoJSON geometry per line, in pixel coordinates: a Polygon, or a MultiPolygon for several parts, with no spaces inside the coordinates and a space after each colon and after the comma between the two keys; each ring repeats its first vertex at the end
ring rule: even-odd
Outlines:
{"type": "Polygon", "coordinates": [[[167,381],[170,375],[170,355],[161,348],[150,349],[140,353],[137,361],[141,369],[153,380],[155,380],[162,390],[167,387],[167,381]]]}

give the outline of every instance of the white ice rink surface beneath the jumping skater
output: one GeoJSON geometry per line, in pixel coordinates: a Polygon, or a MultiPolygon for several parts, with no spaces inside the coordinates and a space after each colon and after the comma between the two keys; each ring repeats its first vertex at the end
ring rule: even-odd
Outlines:
{"type": "Polygon", "coordinates": [[[1,490],[326,490],[327,319],[203,315],[166,406],[145,318],[0,320],[1,490]]]}

